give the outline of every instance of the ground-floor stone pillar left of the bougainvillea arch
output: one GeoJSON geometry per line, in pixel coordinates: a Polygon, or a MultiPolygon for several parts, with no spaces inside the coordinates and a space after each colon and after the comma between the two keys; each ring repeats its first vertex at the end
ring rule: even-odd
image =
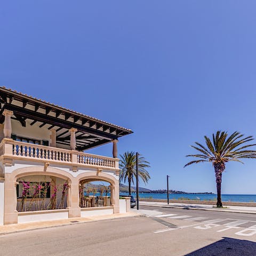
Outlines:
{"type": "Polygon", "coordinates": [[[4,225],[18,223],[17,182],[10,173],[5,173],[4,180],[4,225]]]}

